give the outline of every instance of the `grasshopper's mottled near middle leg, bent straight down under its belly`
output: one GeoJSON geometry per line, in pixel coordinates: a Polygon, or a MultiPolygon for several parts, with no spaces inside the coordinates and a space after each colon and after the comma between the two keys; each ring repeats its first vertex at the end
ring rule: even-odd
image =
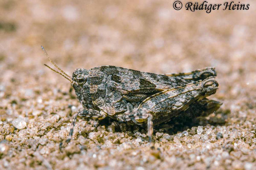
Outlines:
{"type": "Polygon", "coordinates": [[[136,109],[133,111],[125,112],[124,114],[120,114],[117,116],[117,119],[122,122],[132,121],[137,125],[142,125],[145,119],[148,121],[148,140],[152,142],[153,135],[153,116],[150,111],[145,108],[136,109]]]}

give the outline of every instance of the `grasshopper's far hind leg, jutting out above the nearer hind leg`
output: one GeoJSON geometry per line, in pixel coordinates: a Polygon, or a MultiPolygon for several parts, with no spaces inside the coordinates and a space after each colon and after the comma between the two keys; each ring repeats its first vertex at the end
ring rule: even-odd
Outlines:
{"type": "Polygon", "coordinates": [[[179,79],[189,79],[189,80],[198,81],[198,80],[207,79],[208,77],[217,76],[217,73],[215,71],[215,68],[207,67],[207,68],[198,69],[188,73],[167,73],[164,75],[170,76],[170,77],[176,77],[179,79]]]}

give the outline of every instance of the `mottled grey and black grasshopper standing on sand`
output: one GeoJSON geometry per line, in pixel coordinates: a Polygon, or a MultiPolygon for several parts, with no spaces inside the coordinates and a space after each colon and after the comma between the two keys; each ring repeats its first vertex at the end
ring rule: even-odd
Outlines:
{"type": "Polygon", "coordinates": [[[221,103],[206,97],[218,89],[215,68],[203,68],[190,73],[154,74],[111,65],[89,70],[77,68],[72,77],[46,65],[71,82],[83,109],[73,116],[67,142],[73,135],[77,116],[147,125],[152,142],[153,125],[160,125],[179,116],[200,116],[216,111],[221,103]]]}

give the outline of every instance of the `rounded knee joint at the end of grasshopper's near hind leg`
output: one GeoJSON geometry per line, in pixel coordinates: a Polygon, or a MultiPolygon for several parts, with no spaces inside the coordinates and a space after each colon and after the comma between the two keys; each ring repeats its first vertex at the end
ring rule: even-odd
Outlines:
{"type": "Polygon", "coordinates": [[[206,96],[215,94],[218,89],[218,82],[215,77],[209,77],[202,82],[203,88],[206,90],[206,96]]]}

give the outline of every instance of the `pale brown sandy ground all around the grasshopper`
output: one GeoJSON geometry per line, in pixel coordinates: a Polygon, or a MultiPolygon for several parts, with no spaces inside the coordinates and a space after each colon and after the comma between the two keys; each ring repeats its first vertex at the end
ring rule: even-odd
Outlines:
{"type": "MultiPolygon", "coordinates": [[[[211,1],[223,3],[224,1],[211,1]]],[[[171,0],[0,1],[0,169],[256,168],[256,3],[245,11],[175,11],[171,0]],[[171,130],[79,119],[70,83],[44,67],[116,65],[158,74],[213,66],[207,118],[171,130]],[[16,121],[20,122],[16,122],[16,121]],[[15,123],[16,122],[16,123],[15,123]],[[23,129],[17,129],[20,127],[23,129]]]]}

